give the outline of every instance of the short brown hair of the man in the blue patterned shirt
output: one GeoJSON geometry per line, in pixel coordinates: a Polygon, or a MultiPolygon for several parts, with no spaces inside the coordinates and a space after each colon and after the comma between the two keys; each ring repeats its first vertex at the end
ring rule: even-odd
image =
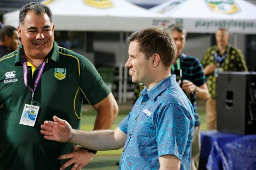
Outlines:
{"type": "Polygon", "coordinates": [[[129,43],[137,41],[139,49],[145,54],[146,60],[157,53],[161,56],[161,62],[164,66],[172,65],[176,56],[176,46],[172,38],[172,34],[167,29],[150,27],[135,31],[127,39],[129,43]]]}

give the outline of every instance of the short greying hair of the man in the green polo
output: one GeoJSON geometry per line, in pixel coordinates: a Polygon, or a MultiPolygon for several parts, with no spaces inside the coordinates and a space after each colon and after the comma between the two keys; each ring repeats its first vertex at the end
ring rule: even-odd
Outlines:
{"type": "Polygon", "coordinates": [[[27,15],[27,12],[34,11],[37,15],[41,14],[42,12],[45,12],[47,16],[49,16],[50,22],[52,23],[52,11],[51,9],[41,4],[40,2],[30,2],[20,9],[20,15],[19,15],[19,25],[22,26],[24,24],[25,17],[27,15]]]}

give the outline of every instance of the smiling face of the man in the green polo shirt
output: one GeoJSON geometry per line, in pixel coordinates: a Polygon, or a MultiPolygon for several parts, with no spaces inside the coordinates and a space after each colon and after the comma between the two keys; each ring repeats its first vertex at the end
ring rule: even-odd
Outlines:
{"type": "Polygon", "coordinates": [[[45,12],[37,15],[34,11],[26,14],[23,25],[18,27],[21,43],[29,58],[45,58],[54,41],[54,25],[45,12]]]}

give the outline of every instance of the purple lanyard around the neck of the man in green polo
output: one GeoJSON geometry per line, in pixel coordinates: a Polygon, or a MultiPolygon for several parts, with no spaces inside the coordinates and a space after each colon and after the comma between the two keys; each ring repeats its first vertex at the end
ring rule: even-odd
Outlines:
{"type": "Polygon", "coordinates": [[[34,82],[34,88],[32,89],[30,86],[28,86],[28,66],[27,66],[27,61],[23,57],[23,77],[24,77],[25,86],[27,86],[32,92],[31,105],[33,105],[34,92],[36,91],[37,85],[38,85],[38,83],[39,83],[39,81],[42,77],[45,64],[46,64],[46,60],[44,60],[43,63],[41,64],[41,66],[40,66],[40,69],[39,69],[39,71],[36,75],[36,80],[34,82]]]}

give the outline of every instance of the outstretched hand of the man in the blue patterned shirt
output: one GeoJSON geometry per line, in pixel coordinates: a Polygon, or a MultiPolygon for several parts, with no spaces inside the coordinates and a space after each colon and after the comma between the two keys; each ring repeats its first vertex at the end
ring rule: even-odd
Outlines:
{"type": "Polygon", "coordinates": [[[57,116],[53,116],[53,121],[44,121],[41,125],[41,133],[47,140],[55,140],[58,142],[70,142],[72,138],[72,128],[67,121],[57,116]]]}

